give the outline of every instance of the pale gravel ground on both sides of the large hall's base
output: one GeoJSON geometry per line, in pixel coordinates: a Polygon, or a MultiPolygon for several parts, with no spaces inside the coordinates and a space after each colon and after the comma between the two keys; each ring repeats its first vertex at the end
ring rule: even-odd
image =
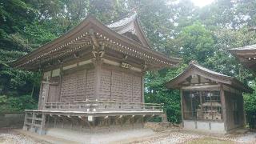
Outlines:
{"type": "MultiPolygon", "coordinates": [[[[211,139],[218,139],[225,141],[227,143],[256,143],[256,133],[246,133],[246,134],[230,134],[226,136],[212,136],[197,134],[182,130],[163,130],[162,132],[156,132],[150,137],[139,138],[134,141],[121,143],[142,143],[142,144],[162,144],[162,143],[197,143],[200,139],[206,139],[210,141],[211,139]]],[[[206,141],[204,141],[206,142],[206,141]]],[[[207,141],[208,142],[208,141],[207,141]]],[[[27,137],[22,134],[15,133],[13,130],[1,130],[0,129],[0,144],[46,144],[48,142],[38,141],[37,139],[27,137]]],[[[200,143],[200,142],[199,142],[200,143]]]]}

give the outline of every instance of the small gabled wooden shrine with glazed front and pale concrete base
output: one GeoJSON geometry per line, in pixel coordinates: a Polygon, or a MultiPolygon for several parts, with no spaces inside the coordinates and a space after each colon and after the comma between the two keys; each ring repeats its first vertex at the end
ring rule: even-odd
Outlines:
{"type": "Polygon", "coordinates": [[[226,134],[245,125],[242,93],[252,89],[236,78],[190,62],[167,88],[180,89],[182,125],[186,130],[226,134]]]}

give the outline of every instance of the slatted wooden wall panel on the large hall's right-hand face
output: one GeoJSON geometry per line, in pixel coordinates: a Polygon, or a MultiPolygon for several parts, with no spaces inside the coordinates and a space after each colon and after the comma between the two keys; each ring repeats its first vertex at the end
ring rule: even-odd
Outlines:
{"type": "Polygon", "coordinates": [[[115,69],[102,69],[100,99],[142,102],[142,77],[115,69]]]}

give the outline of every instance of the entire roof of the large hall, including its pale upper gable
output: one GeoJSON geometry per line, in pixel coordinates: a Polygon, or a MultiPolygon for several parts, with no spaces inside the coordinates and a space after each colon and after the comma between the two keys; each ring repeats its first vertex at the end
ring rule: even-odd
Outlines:
{"type": "Polygon", "coordinates": [[[181,62],[180,58],[169,58],[150,48],[137,15],[134,14],[108,26],[103,25],[96,18],[88,16],[66,34],[10,64],[26,70],[30,70],[31,67],[37,70],[42,63],[57,61],[67,54],[74,54],[88,46],[94,46],[95,41],[99,45],[142,59],[154,66],[176,66],[181,62]]]}

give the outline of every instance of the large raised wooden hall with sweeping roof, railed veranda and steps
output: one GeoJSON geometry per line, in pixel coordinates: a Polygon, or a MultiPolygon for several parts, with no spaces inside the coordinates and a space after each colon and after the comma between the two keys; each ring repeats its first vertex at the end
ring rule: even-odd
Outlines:
{"type": "Polygon", "coordinates": [[[42,70],[38,110],[26,110],[24,130],[94,131],[143,126],[162,114],[144,103],[144,74],[175,66],[150,48],[136,14],[108,26],[89,16],[74,29],[19,58],[12,65],[42,70]]]}

